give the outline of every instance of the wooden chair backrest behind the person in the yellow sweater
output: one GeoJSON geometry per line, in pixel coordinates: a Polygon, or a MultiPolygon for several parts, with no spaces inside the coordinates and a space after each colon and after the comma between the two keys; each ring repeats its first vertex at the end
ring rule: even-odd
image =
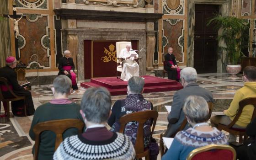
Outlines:
{"type": "Polygon", "coordinates": [[[251,121],[256,118],[256,97],[251,97],[251,98],[245,98],[239,102],[239,109],[238,112],[235,115],[235,118],[233,121],[228,125],[228,128],[231,128],[235,125],[235,123],[238,121],[239,117],[241,116],[243,109],[247,105],[253,105],[254,110],[251,116],[251,121]]]}

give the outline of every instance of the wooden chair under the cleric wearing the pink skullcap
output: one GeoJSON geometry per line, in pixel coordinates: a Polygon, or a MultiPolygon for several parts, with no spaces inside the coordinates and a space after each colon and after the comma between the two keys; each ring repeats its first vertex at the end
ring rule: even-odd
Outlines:
{"type": "MultiPolygon", "coordinates": [[[[10,88],[8,85],[8,81],[4,77],[0,77],[0,85],[4,85],[7,87],[8,91],[11,93],[13,98],[5,99],[3,96],[3,92],[0,89],[0,102],[5,102],[7,105],[7,121],[10,121],[10,101],[19,101],[19,100],[24,100],[25,101],[25,96],[17,96],[10,88]]],[[[25,116],[27,116],[27,106],[24,104],[24,113],[25,116]]]]}

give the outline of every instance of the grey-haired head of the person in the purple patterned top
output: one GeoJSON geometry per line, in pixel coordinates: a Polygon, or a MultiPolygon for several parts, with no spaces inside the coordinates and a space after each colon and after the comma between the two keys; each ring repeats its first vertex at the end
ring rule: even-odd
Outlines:
{"type": "Polygon", "coordinates": [[[133,76],[128,80],[130,92],[134,94],[141,94],[141,92],[143,91],[144,84],[144,79],[139,76],[133,76]]]}

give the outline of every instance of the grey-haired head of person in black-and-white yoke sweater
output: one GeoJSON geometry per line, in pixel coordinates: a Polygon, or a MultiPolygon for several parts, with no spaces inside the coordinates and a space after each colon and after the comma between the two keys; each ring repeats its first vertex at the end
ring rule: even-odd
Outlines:
{"type": "Polygon", "coordinates": [[[111,110],[110,93],[106,88],[89,88],[85,91],[81,110],[85,113],[85,118],[91,123],[105,123],[108,120],[111,110]]]}

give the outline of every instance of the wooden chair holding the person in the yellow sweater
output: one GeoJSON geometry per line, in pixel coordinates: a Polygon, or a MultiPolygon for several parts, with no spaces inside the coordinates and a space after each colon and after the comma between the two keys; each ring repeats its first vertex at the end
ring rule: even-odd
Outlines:
{"type": "Polygon", "coordinates": [[[243,142],[243,136],[244,136],[244,140],[247,139],[245,128],[239,129],[239,128],[233,128],[233,126],[238,121],[244,107],[247,106],[247,105],[253,105],[254,106],[254,111],[253,111],[252,116],[251,116],[251,121],[252,121],[256,117],[256,97],[246,98],[246,99],[239,102],[238,112],[236,113],[235,118],[233,119],[233,121],[229,125],[224,125],[224,124],[221,124],[221,123],[218,124],[218,129],[220,131],[223,129],[224,131],[227,131],[231,134],[239,135],[239,142],[240,143],[243,142]]]}

